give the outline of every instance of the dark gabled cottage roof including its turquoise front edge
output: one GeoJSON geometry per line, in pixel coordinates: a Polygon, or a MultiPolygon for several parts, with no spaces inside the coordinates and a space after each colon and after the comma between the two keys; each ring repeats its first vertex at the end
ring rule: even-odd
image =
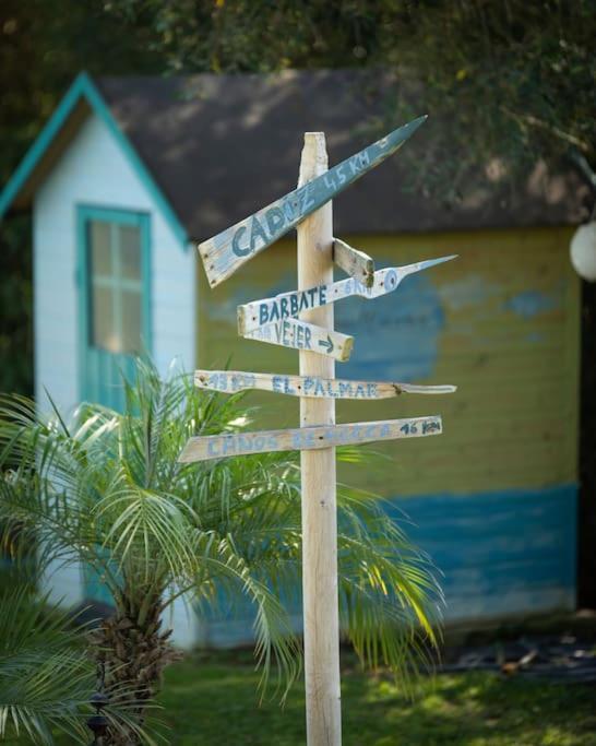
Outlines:
{"type": "MultiPolygon", "coordinates": [[[[384,103],[379,75],[287,71],[184,78],[80,75],[0,194],[0,214],[25,206],[91,111],[122,145],[181,239],[204,240],[296,187],[305,131],[327,137],[330,163],[371,140],[363,126],[384,103]]],[[[407,147],[428,150],[424,130],[407,147]]],[[[479,165],[479,171],[485,164],[479,165]]],[[[337,233],[574,224],[586,188],[538,165],[506,194],[475,190],[448,209],[401,190],[400,156],[334,203],[337,233]]]]}

